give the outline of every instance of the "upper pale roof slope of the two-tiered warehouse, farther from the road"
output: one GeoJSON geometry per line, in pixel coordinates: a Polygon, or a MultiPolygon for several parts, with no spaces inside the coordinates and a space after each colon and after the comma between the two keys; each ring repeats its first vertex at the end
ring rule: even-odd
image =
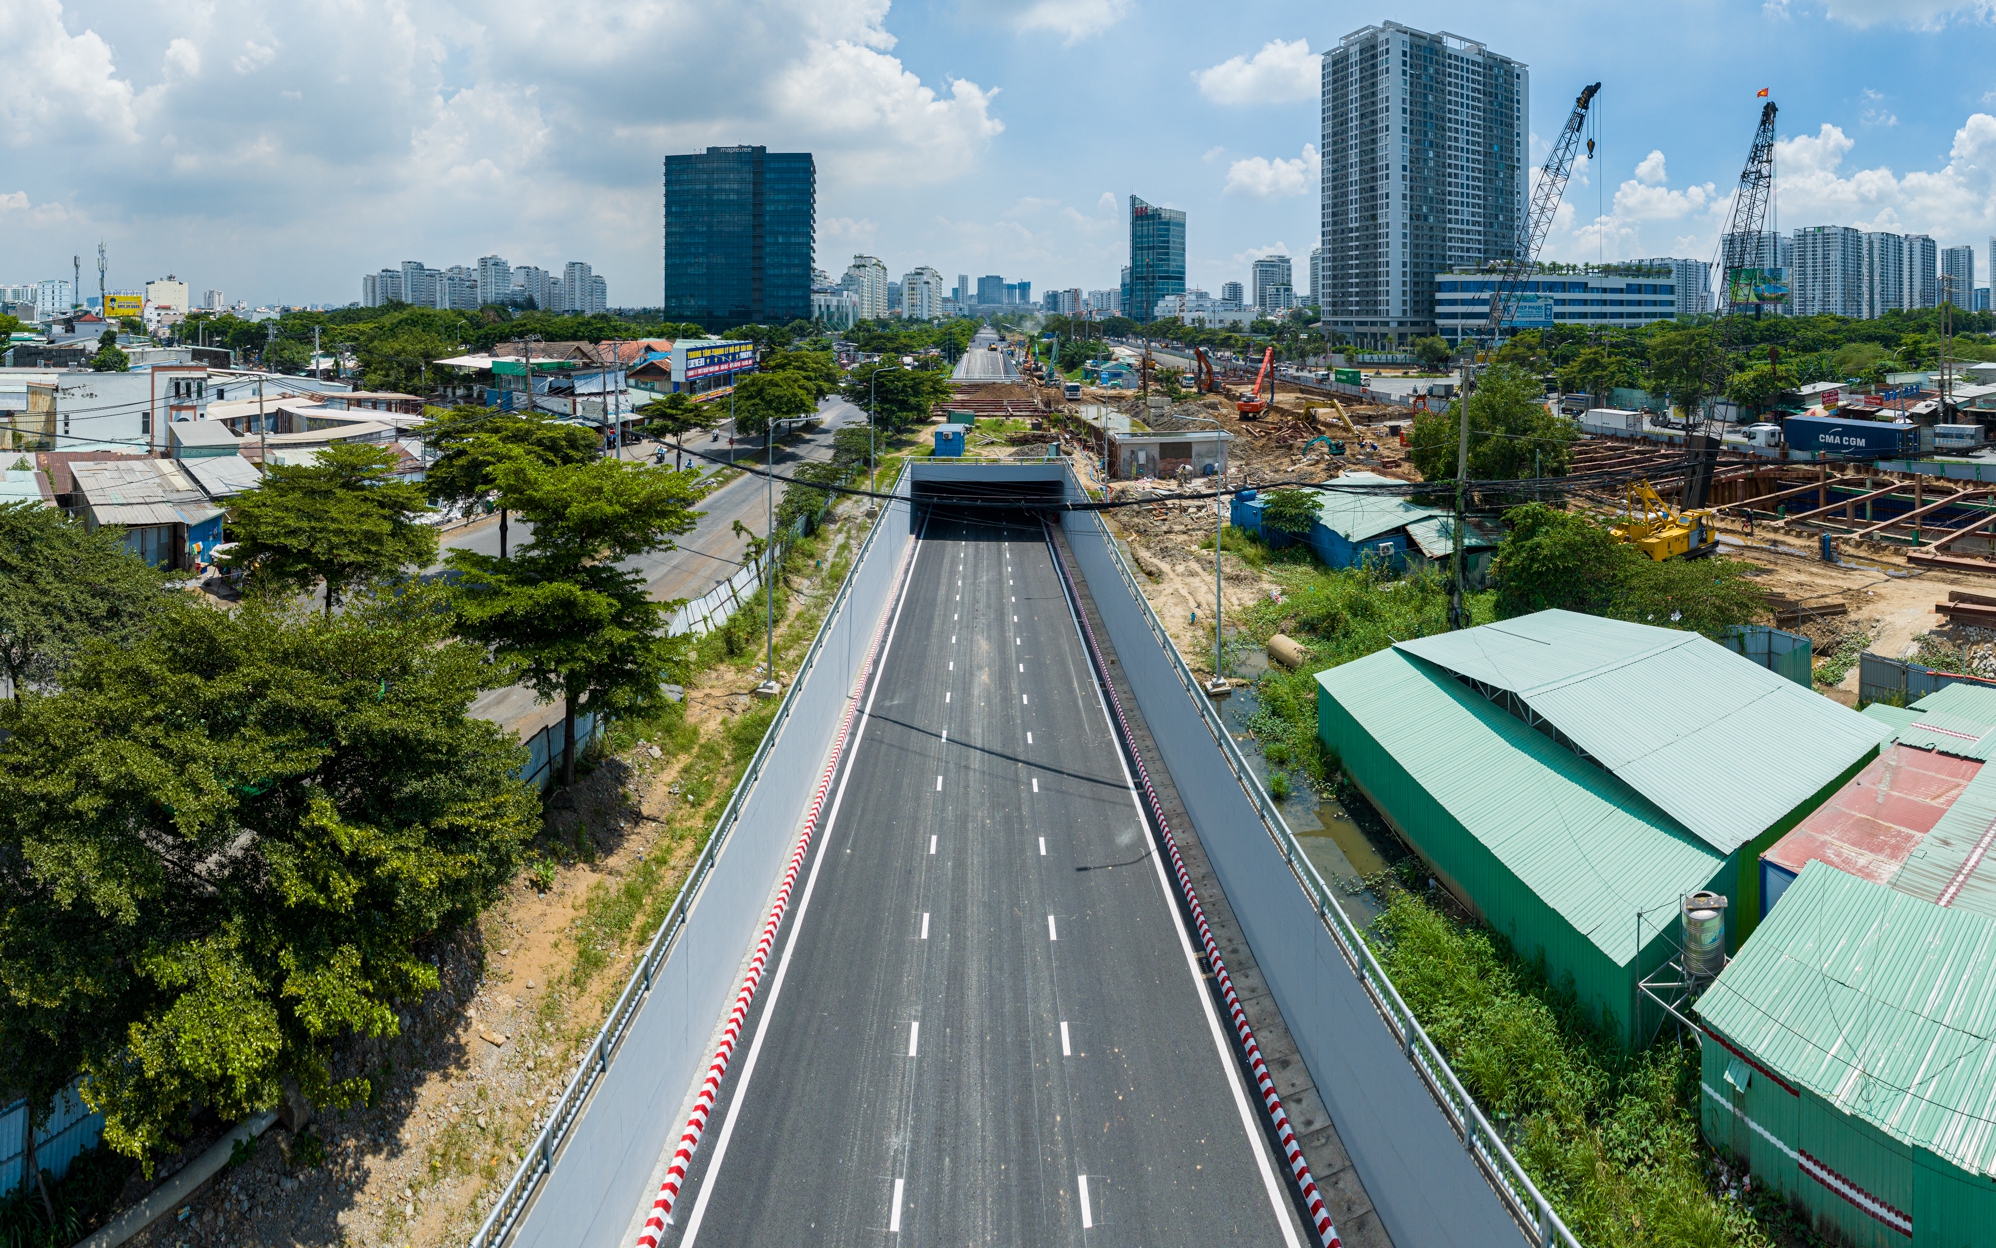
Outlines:
{"type": "Polygon", "coordinates": [[[1401,641],[1507,691],[1719,853],[1733,853],[1890,729],[1723,645],[1575,611],[1401,641]]]}

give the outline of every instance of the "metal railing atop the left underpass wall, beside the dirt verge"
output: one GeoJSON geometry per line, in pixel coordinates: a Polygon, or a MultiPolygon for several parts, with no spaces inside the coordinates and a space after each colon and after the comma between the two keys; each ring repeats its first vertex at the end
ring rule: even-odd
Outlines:
{"type": "MultiPolygon", "coordinates": [[[[902,467],[902,473],[894,477],[894,489],[888,493],[900,489],[904,473],[906,467],[902,467]]],[[[471,1248],[493,1248],[503,1244],[519,1224],[519,1214],[527,1208],[527,1200],[541,1186],[541,1180],[545,1180],[555,1168],[555,1154],[561,1150],[561,1142],[569,1136],[569,1130],[581,1116],[597,1080],[609,1072],[611,1058],[617,1056],[617,1044],[631,1030],[631,1022],[637,1018],[639,1006],[643,1006],[645,998],[651,994],[653,976],[659,966],[665,964],[667,954],[671,954],[679,933],[687,927],[687,915],[693,907],[693,899],[699,897],[701,885],[713,873],[715,859],[735,827],[743,799],[754,787],[762,773],[762,761],[776,743],[776,735],[782,731],[782,725],[790,719],[790,707],[796,703],[796,693],[804,687],[804,677],[810,675],[816,665],[818,651],[824,649],[824,639],[830,635],[832,621],[838,619],[838,611],[846,605],[846,597],[852,591],[852,577],[866,563],[866,553],[872,551],[874,539],[880,537],[880,531],[886,527],[882,521],[890,511],[892,507],[880,509],[878,517],[874,517],[872,529],[866,531],[866,541],[862,541],[860,549],[852,555],[852,567],[846,569],[846,577],[838,585],[838,595],[832,599],[830,609],[826,609],[824,619],[818,623],[818,635],[810,639],[810,651],[806,651],[804,661],[798,663],[796,679],[790,681],[790,689],[782,695],[782,703],[776,707],[774,719],[770,719],[768,729],[762,733],[762,743],[756,745],[754,757],[748,759],[748,767],[743,771],[741,783],[735,785],[735,793],[729,797],[729,805],[721,811],[721,819],[715,821],[715,831],[707,837],[707,847],[701,851],[701,857],[695,859],[693,871],[687,873],[687,883],[679,887],[679,895],[673,899],[673,909],[665,913],[651,944],[645,946],[645,956],[641,956],[637,966],[633,966],[631,978],[617,996],[617,1004],[611,1006],[609,1018],[605,1018],[603,1026],[597,1030],[597,1038],[577,1062],[575,1074],[569,1076],[561,1096],[555,1098],[553,1106],[549,1106],[547,1118],[533,1144],[527,1148],[521,1164],[513,1170],[513,1178],[507,1180],[505,1188],[499,1192],[499,1200],[493,1204],[493,1210],[485,1216],[477,1234],[471,1236],[471,1248]]]]}

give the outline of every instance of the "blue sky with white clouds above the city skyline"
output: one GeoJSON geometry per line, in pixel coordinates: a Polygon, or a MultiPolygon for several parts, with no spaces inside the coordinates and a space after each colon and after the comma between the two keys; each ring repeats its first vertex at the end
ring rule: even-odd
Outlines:
{"type": "Polygon", "coordinates": [[[0,0],[0,284],[176,274],[345,304],[361,274],[593,264],[657,306],[661,158],[812,152],[818,268],[878,256],[1110,288],[1128,200],[1188,214],[1188,282],[1307,284],[1317,54],[1373,22],[1531,70],[1533,156],[1601,82],[1557,260],[1711,258],[1780,106],[1776,224],[1996,234],[1996,0],[0,0]]]}

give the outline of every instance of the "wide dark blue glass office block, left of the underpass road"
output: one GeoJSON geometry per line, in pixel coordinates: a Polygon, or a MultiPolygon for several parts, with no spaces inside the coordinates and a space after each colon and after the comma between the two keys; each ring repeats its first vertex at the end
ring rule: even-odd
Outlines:
{"type": "Polygon", "coordinates": [[[707,329],[808,319],[816,202],[810,152],[667,156],[665,319],[707,329]]]}

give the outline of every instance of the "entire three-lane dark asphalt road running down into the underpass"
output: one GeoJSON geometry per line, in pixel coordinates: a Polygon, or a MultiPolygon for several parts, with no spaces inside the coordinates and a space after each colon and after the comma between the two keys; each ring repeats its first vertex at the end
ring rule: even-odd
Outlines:
{"type": "Polygon", "coordinates": [[[836,793],[669,1242],[1305,1242],[1038,525],[928,525],[836,793]]]}

